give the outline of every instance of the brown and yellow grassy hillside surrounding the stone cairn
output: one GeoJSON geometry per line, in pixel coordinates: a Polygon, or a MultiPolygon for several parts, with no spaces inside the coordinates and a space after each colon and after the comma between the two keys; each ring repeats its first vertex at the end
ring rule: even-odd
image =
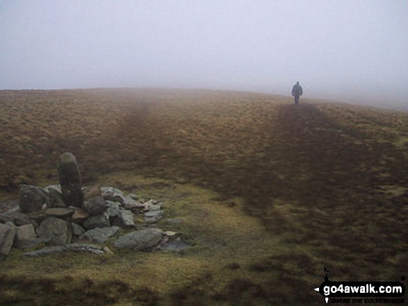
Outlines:
{"type": "Polygon", "coordinates": [[[194,245],[24,264],[15,252],[0,262],[8,303],[321,305],[324,265],[333,280],[408,271],[408,113],[245,92],[1,91],[0,126],[0,198],[55,183],[70,151],[86,185],[163,199],[183,223],[159,226],[194,245]]]}

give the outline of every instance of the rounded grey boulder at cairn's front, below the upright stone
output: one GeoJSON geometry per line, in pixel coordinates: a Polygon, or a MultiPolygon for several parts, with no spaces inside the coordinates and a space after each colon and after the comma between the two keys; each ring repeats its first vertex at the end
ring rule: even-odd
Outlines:
{"type": "Polygon", "coordinates": [[[49,238],[48,244],[52,246],[70,244],[72,239],[70,223],[54,216],[42,221],[37,230],[37,235],[38,237],[49,238]]]}

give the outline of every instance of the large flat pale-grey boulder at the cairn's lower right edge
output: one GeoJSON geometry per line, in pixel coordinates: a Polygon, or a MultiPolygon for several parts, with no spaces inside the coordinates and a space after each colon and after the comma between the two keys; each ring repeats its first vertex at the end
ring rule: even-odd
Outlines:
{"type": "Polygon", "coordinates": [[[156,246],[163,237],[163,232],[158,228],[147,228],[146,230],[136,230],[113,241],[115,248],[131,250],[148,250],[156,246]]]}

